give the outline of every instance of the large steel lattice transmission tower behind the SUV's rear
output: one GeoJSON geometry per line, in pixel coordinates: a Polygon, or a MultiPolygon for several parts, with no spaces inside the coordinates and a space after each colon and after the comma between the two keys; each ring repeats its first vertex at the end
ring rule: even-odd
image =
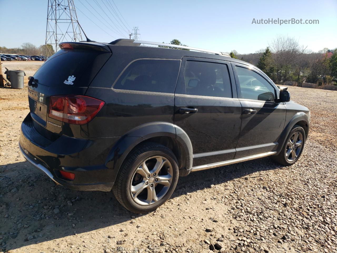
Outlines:
{"type": "Polygon", "coordinates": [[[81,41],[82,34],[73,0],[48,0],[44,55],[57,52],[63,41],[81,41]],[[47,46],[51,45],[51,46],[47,46]]]}

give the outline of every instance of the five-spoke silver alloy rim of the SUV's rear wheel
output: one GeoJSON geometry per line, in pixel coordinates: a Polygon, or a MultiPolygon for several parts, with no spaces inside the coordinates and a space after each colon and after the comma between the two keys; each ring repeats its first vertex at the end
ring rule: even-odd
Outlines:
{"type": "Polygon", "coordinates": [[[165,196],[172,179],[173,168],[170,161],[162,156],[150,157],[133,173],[131,197],[139,205],[152,205],[165,196]]]}

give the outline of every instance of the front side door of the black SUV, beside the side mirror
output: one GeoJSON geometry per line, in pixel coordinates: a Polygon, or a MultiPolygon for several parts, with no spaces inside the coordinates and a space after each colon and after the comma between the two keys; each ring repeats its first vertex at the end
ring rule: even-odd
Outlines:
{"type": "Polygon", "coordinates": [[[285,123],[285,105],[278,89],[258,69],[232,62],[242,106],[240,137],[235,158],[274,151],[285,123]]]}

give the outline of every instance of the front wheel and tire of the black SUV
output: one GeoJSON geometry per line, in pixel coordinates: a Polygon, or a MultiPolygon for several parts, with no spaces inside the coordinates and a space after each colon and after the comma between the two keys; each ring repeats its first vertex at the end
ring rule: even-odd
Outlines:
{"type": "Polygon", "coordinates": [[[277,156],[272,156],[273,160],[284,166],[290,166],[300,158],[304,144],[305,131],[302,126],[295,125],[287,136],[287,139],[277,156]]]}

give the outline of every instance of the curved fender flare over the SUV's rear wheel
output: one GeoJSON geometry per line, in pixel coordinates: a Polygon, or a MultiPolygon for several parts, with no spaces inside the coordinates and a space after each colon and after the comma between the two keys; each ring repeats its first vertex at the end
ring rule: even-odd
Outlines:
{"type": "MultiPolygon", "coordinates": [[[[184,130],[168,122],[150,122],[137,126],[122,136],[112,147],[105,160],[105,166],[114,170],[112,180],[116,180],[119,169],[130,151],[139,143],[153,137],[170,137],[179,143],[185,153],[185,166],[180,168],[179,174],[188,175],[192,168],[193,151],[191,141],[184,130]]],[[[178,158],[179,159],[179,158],[178,158]]]]}

